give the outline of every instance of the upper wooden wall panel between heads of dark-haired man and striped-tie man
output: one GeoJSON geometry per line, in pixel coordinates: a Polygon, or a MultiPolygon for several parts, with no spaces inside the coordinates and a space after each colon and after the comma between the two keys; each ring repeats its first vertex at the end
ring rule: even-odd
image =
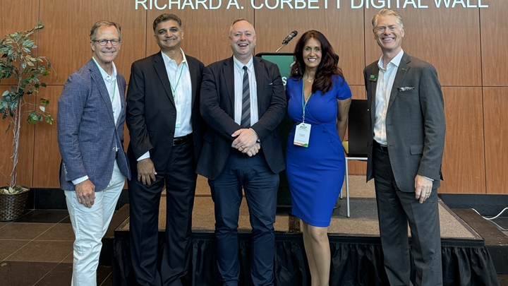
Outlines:
{"type": "Polygon", "coordinates": [[[246,5],[243,10],[236,8],[226,10],[226,4],[226,1],[222,1],[221,8],[217,10],[149,10],[146,27],[146,55],[150,56],[160,50],[153,36],[153,20],[162,13],[176,13],[176,16],[182,20],[183,52],[199,59],[205,66],[232,56],[233,52],[231,52],[228,41],[229,26],[236,18],[246,18],[252,22],[254,9],[250,5],[246,5]]]}

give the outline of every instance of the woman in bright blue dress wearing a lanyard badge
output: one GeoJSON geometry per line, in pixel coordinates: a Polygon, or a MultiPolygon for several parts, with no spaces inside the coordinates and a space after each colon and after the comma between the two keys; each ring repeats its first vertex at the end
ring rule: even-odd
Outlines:
{"type": "Polygon", "coordinates": [[[289,117],[295,123],[286,150],[291,213],[303,221],[311,285],[328,285],[327,227],[344,182],[341,141],[346,133],[351,90],[321,32],[303,34],[294,56],[286,83],[289,117]]]}

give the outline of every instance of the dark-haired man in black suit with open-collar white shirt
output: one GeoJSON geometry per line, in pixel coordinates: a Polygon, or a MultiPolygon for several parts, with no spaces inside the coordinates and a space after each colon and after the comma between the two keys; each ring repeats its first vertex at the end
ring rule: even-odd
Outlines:
{"type": "Polygon", "coordinates": [[[157,17],[153,29],[161,52],[132,64],[127,93],[131,256],[138,285],[186,285],[195,166],[205,130],[199,111],[204,66],[183,53],[183,30],[176,15],[157,17]],[[166,233],[159,273],[157,233],[164,186],[166,233]]]}

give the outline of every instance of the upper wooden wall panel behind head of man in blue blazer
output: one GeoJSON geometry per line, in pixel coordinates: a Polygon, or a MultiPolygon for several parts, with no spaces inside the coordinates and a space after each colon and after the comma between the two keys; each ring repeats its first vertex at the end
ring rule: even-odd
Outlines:
{"type": "Polygon", "coordinates": [[[47,83],[63,85],[92,58],[90,29],[98,20],[111,20],[122,27],[121,51],[115,64],[128,81],[132,62],[145,56],[145,10],[114,0],[47,0],[42,4],[40,19],[46,28],[40,32],[40,54],[52,61],[59,75],[58,81],[51,76],[47,83]]]}

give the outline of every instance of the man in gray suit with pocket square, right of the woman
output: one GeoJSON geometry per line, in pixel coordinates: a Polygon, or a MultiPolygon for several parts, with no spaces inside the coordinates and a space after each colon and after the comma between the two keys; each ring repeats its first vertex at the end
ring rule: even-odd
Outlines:
{"type": "Polygon", "coordinates": [[[367,180],[375,179],[385,270],[390,285],[411,285],[407,225],[416,285],[442,285],[437,206],[444,148],[444,102],[435,68],[401,48],[399,13],[373,18],[379,61],[365,67],[370,109],[367,180]]]}

